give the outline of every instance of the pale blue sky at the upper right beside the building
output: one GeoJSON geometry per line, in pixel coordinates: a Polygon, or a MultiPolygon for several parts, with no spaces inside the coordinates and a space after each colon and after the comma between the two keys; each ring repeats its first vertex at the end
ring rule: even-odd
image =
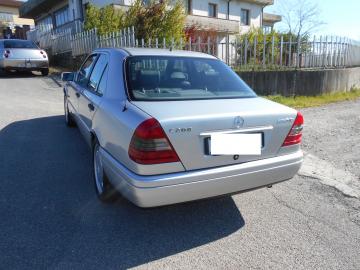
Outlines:
{"type": "MultiPolygon", "coordinates": [[[[265,12],[279,13],[280,2],[294,0],[275,0],[273,6],[265,8],[265,12]]],[[[325,25],[316,30],[316,35],[333,35],[360,40],[360,0],[313,0],[321,10],[320,20],[325,25]]],[[[276,29],[284,27],[276,24],[276,29]]]]}

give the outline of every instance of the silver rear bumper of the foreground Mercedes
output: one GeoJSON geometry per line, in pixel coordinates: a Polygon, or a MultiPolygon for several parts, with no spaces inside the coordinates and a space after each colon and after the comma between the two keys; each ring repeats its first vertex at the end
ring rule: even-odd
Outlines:
{"type": "Polygon", "coordinates": [[[140,207],[156,207],[256,189],[285,180],[298,172],[301,150],[244,164],[158,176],[129,171],[102,150],[106,173],[123,196],[140,207]]]}

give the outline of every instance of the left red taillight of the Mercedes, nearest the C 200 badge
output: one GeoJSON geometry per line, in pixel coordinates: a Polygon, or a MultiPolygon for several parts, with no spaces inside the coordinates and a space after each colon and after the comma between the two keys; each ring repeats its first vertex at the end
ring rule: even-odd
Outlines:
{"type": "Polygon", "coordinates": [[[129,146],[129,157],[139,164],[160,164],[179,162],[160,123],[150,118],[135,130],[129,146]]]}

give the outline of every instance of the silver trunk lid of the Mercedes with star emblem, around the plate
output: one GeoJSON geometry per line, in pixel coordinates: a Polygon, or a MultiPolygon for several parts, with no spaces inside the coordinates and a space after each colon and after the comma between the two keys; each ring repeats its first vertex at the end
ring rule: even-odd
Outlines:
{"type": "Polygon", "coordinates": [[[297,114],[293,109],[259,97],[134,101],[133,104],[160,122],[186,170],[221,167],[276,156],[297,114]],[[261,155],[211,155],[209,140],[212,134],[219,133],[261,134],[261,155]]]}

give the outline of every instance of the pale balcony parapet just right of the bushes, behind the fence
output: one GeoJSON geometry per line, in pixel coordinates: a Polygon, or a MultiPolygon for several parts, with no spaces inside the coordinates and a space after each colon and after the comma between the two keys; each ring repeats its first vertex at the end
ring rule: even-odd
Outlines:
{"type": "Polygon", "coordinates": [[[193,25],[199,27],[199,30],[214,30],[216,32],[228,34],[239,33],[240,29],[240,23],[238,21],[188,15],[186,17],[186,26],[193,25]]]}

